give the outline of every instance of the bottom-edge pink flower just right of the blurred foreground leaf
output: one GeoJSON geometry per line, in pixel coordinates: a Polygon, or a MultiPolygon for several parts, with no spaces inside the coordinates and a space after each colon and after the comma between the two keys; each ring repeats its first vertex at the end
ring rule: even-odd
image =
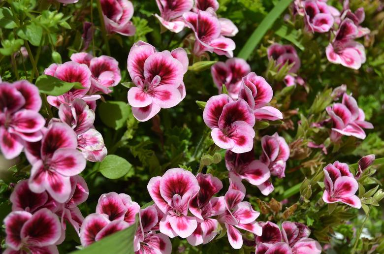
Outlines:
{"type": "Polygon", "coordinates": [[[159,222],[156,205],[141,209],[139,215],[139,227],[134,238],[133,250],[135,253],[170,254],[172,252],[172,244],[169,237],[162,233],[155,233],[155,230],[157,230],[156,225],[159,222]]]}

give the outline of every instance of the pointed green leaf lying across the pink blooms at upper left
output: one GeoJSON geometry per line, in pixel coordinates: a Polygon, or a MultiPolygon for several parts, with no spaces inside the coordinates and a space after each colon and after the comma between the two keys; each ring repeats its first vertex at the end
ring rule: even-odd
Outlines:
{"type": "Polygon", "coordinates": [[[36,87],[39,92],[46,95],[59,96],[68,92],[72,88],[82,89],[81,83],[68,83],[49,75],[41,75],[36,80],[36,87]]]}

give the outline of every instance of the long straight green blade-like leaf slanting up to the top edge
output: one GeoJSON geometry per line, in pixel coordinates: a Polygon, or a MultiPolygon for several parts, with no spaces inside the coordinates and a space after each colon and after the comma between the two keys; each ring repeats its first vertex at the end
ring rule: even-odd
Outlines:
{"type": "Polygon", "coordinates": [[[261,21],[260,25],[248,38],[247,42],[241,49],[238,57],[247,60],[251,53],[255,50],[264,34],[272,27],[277,18],[284,12],[292,0],[280,0],[268,15],[261,21]]]}

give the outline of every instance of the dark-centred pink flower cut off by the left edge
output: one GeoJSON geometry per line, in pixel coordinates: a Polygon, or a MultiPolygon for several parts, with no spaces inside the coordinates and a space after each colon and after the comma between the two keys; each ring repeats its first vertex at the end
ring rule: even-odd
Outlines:
{"type": "Polygon", "coordinates": [[[0,151],[5,159],[17,157],[25,142],[41,140],[44,118],[38,113],[38,89],[26,80],[0,83],[0,151]]]}

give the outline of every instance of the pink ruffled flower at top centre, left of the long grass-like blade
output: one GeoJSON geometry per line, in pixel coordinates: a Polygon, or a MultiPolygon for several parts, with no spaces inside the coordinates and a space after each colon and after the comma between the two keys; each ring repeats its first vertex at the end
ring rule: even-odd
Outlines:
{"type": "MultiPolygon", "coordinates": [[[[198,13],[186,12],[183,18],[195,36],[193,54],[201,56],[205,51],[233,57],[236,45],[232,39],[224,37],[222,25],[215,13],[199,10],[198,13]]],[[[228,36],[228,34],[226,34],[228,36]]]]}

